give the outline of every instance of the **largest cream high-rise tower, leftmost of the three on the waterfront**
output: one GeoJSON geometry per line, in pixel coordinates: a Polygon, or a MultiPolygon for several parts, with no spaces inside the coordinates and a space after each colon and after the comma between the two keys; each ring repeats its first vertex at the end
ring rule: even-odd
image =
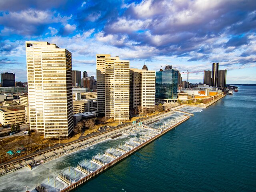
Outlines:
{"type": "Polygon", "coordinates": [[[72,56],[48,42],[26,41],[30,128],[44,138],[73,131],[72,56]]]}

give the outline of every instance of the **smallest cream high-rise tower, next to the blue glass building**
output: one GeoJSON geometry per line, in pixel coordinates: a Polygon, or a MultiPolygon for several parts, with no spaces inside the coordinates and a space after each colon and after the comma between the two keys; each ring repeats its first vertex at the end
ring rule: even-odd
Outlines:
{"type": "Polygon", "coordinates": [[[154,110],[156,72],[130,68],[130,107],[154,110]]]}

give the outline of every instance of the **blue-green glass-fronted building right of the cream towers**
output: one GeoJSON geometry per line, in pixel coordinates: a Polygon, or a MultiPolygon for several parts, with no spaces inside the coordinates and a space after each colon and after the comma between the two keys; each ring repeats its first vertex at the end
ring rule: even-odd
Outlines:
{"type": "Polygon", "coordinates": [[[178,70],[166,66],[166,70],[156,72],[156,99],[178,98],[178,70]]]}

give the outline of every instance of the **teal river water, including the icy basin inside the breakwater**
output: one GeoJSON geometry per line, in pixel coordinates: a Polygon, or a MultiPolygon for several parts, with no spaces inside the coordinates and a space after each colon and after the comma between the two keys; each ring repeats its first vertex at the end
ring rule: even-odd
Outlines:
{"type": "MultiPolygon", "coordinates": [[[[256,86],[241,86],[206,109],[184,109],[194,116],[75,191],[256,191],[255,95],[256,86]]],[[[0,191],[25,191],[26,186],[35,191],[48,176],[52,183],[68,167],[72,172],[78,162],[128,139],[107,140],[32,170],[0,176],[0,191]]],[[[56,180],[56,186],[64,184],[56,180]]]]}

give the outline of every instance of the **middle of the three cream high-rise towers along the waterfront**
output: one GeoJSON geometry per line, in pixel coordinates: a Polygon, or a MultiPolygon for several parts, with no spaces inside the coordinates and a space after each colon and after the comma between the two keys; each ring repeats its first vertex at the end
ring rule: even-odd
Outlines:
{"type": "Polygon", "coordinates": [[[98,112],[114,120],[129,119],[130,61],[96,55],[98,112]]]}

